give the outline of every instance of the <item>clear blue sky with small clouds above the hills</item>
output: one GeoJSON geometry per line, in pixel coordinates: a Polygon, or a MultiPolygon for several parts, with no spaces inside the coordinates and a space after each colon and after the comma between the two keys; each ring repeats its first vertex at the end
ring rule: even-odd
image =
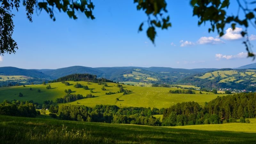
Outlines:
{"type": "MultiPolygon", "coordinates": [[[[132,0],[93,2],[94,20],[87,19],[82,13],[73,20],[56,10],[55,22],[44,11],[35,11],[30,23],[21,7],[15,12],[13,33],[19,49],[16,54],[0,57],[0,66],[190,69],[235,68],[255,62],[246,58],[243,39],[239,39],[235,32],[228,31],[223,38],[218,38],[216,32],[208,33],[208,24],[198,26],[188,0],[167,1],[172,27],[163,31],[157,29],[156,46],[146,36],[147,25],[144,25],[143,32],[138,33],[140,23],[147,17],[143,11],[136,10],[132,0]]],[[[236,14],[236,3],[231,3],[228,11],[236,14]]],[[[236,32],[243,28],[237,27],[236,32]]],[[[254,28],[249,28],[251,34],[252,39],[256,39],[254,28]]],[[[251,42],[256,45],[256,40],[251,42]]],[[[256,52],[255,48],[253,50],[256,52]]]]}

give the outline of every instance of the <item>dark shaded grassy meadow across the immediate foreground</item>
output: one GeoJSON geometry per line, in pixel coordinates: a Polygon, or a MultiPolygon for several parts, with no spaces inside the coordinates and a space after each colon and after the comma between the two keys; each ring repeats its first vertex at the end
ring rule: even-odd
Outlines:
{"type": "Polygon", "coordinates": [[[0,119],[1,143],[255,143],[256,137],[256,133],[239,130],[183,128],[186,126],[155,127],[10,116],[0,116],[0,119]]]}

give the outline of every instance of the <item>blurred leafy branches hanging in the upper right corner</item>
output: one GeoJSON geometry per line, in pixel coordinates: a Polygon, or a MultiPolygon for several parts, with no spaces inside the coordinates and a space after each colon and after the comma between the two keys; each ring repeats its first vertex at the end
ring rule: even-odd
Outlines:
{"type": "MultiPolygon", "coordinates": [[[[234,1],[232,1],[234,2],[234,1]]],[[[249,23],[256,27],[256,9],[248,8],[248,5],[255,4],[256,1],[252,1],[251,3],[244,0],[244,5],[241,4],[240,0],[236,0],[238,4],[238,12],[237,15],[227,15],[227,9],[230,5],[229,0],[191,0],[190,4],[193,6],[193,16],[197,16],[199,18],[198,25],[205,24],[206,22],[210,22],[211,27],[208,29],[208,32],[214,32],[217,30],[220,36],[224,35],[224,28],[231,24],[233,30],[235,30],[236,25],[242,25],[245,27],[245,30],[241,32],[243,37],[246,37],[246,40],[243,41],[246,50],[248,52],[249,57],[254,57],[254,54],[251,50],[251,43],[249,41],[249,36],[247,32],[247,28],[249,27],[249,23]],[[239,16],[239,10],[244,12],[244,18],[239,16]],[[254,22],[252,22],[252,20],[254,22]]]]}

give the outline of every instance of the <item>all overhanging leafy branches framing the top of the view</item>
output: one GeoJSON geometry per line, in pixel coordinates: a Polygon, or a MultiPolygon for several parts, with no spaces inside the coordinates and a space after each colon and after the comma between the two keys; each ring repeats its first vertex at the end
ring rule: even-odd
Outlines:
{"type": "MultiPolygon", "coordinates": [[[[190,0],[190,4],[193,7],[193,16],[198,17],[198,25],[210,23],[211,27],[208,32],[217,31],[219,36],[224,35],[225,26],[231,26],[235,30],[236,25],[241,25],[245,28],[241,32],[241,35],[246,38],[243,41],[248,56],[253,56],[251,49],[251,43],[249,41],[247,28],[250,26],[256,28],[256,1],[248,2],[247,0],[236,0],[232,3],[238,4],[238,12],[236,15],[228,15],[227,10],[230,5],[229,0],[190,0]],[[244,16],[239,17],[240,10],[244,16]]],[[[12,18],[14,17],[13,10],[19,10],[20,0],[0,0],[0,55],[15,53],[18,49],[17,43],[12,38],[14,30],[14,24],[12,18]]],[[[155,44],[156,28],[168,29],[171,27],[170,16],[167,13],[167,2],[165,0],[134,0],[137,4],[138,11],[144,11],[148,16],[148,20],[142,22],[139,25],[138,32],[143,30],[144,24],[148,25],[147,36],[155,44]]],[[[168,4],[171,2],[168,2],[168,4]]],[[[32,22],[32,15],[35,8],[39,11],[46,11],[50,18],[55,21],[55,11],[58,9],[60,12],[67,13],[69,18],[77,19],[77,12],[81,11],[84,13],[86,18],[95,19],[93,15],[94,4],[91,0],[47,0],[47,1],[36,1],[36,0],[23,0],[22,5],[25,6],[27,12],[27,18],[32,22]]]]}

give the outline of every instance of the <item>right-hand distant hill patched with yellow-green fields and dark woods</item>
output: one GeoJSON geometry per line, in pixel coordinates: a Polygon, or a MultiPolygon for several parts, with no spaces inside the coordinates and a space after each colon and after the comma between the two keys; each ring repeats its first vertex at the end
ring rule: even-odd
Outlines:
{"type": "Polygon", "coordinates": [[[176,83],[196,85],[209,89],[230,88],[255,91],[256,69],[219,69],[204,74],[189,76],[176,83]]]}

